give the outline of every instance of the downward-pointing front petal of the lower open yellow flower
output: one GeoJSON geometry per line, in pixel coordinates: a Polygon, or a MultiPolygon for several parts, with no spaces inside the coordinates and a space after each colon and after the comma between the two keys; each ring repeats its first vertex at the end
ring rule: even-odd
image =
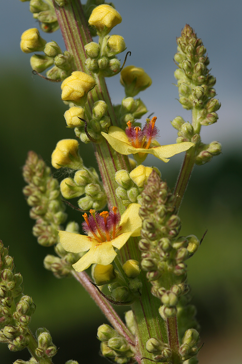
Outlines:
{"type": "Polygon", "coordinates": [[[92,246],[89,252],[84,254],[83,257],[78,260],[78,262],[73,264],[73,268],[77,272],[82,272],[94,263],[108,265],[114,260],[116,255],[117,253],[115,252],[111,241],[105,241],[101,244],[92,246]]]}

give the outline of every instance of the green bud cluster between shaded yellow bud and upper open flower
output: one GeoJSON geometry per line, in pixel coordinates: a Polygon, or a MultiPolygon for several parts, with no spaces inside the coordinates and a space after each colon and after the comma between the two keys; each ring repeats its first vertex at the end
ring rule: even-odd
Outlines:
{"type": "Polygon", "coordinates": [[[122,129],[127,127],[129,121],[135,126],[140,126],[135,120],[140,119],[147,111],[143,101],[132,97],[124,98],[121,105],[114,105],[114,112],[122,129]]]}

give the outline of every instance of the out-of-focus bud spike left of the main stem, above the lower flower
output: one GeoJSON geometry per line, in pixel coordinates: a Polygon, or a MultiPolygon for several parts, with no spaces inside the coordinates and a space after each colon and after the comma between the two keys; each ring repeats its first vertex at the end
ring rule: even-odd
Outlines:
{"type": "Polygon", "coordinates": [[[61,202],[57,179],[50,174],[50,168],[30,151],[23,168],[23,177],[27,186],[23,193],[31,206],[30,217],[36,220],[33,234],[38,243],[44,246],[56,244],[60,224],[66,220],[65,206],[61,202]]]}

